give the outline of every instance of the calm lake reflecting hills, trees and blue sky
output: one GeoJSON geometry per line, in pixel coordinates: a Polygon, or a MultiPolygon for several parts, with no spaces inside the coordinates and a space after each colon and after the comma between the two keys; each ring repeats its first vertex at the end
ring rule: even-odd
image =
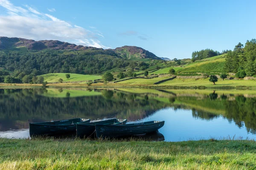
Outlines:
{"type": "Polygon", "coordinates": [[[255,139],[256,91],[142,88],[0,89],[0,136],[28,138],[30,122],[71,118],[164,120],[165,141],[255,139]]]}

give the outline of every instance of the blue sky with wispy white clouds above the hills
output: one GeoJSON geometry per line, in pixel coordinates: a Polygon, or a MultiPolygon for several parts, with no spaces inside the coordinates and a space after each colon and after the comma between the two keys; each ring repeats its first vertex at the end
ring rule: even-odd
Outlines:
{"type": "Polygon", "coordinates": [[[255,0],[0,0],[0,36],[190,58],[256,37],[255,0]]]}

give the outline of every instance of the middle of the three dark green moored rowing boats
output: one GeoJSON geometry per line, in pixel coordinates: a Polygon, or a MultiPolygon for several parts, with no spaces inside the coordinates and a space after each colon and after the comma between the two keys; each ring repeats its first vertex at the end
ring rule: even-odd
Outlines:
{"type": "Polygon", "coordinates": [[[76,135],[80,138],[90,137],[95,134],[95,125],[124,125],[126,119],[108,119],[90,123],[79,123],[76,125],[76,135]]]}

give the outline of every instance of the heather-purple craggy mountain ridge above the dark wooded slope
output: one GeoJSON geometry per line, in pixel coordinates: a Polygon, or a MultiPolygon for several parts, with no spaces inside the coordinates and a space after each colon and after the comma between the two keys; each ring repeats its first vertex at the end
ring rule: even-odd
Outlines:
{"type": "MultiPolygon", "coordinates": [[[[70,44],[58,40],[27,40],[24,38],[9,38],[0,37],[0,50],[13,48],[26,48],[29,51],[41,51],[45,49],[52,50],[75,50],[75,51],[98,51],[98,54],[111,55],[115,57],[123,57],[127,59],[145,58],[145,59],[160,59],[155,54],[136,46],[123,46],[116,49],[103,49],[96,47],[87,47],[83,45],[70,44]]],[[[94,53],[94,52],[92,52],[94,53]]]]}

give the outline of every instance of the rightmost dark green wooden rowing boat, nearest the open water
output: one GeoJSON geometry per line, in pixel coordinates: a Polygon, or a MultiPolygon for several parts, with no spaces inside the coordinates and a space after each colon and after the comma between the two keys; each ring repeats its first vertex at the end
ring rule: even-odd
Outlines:
{"type": "Polygon", "coordinates": [[[164,121],[138,122],[126,125],[95,125],[97,138],[140,136],[163,127],[164,121]]]}

